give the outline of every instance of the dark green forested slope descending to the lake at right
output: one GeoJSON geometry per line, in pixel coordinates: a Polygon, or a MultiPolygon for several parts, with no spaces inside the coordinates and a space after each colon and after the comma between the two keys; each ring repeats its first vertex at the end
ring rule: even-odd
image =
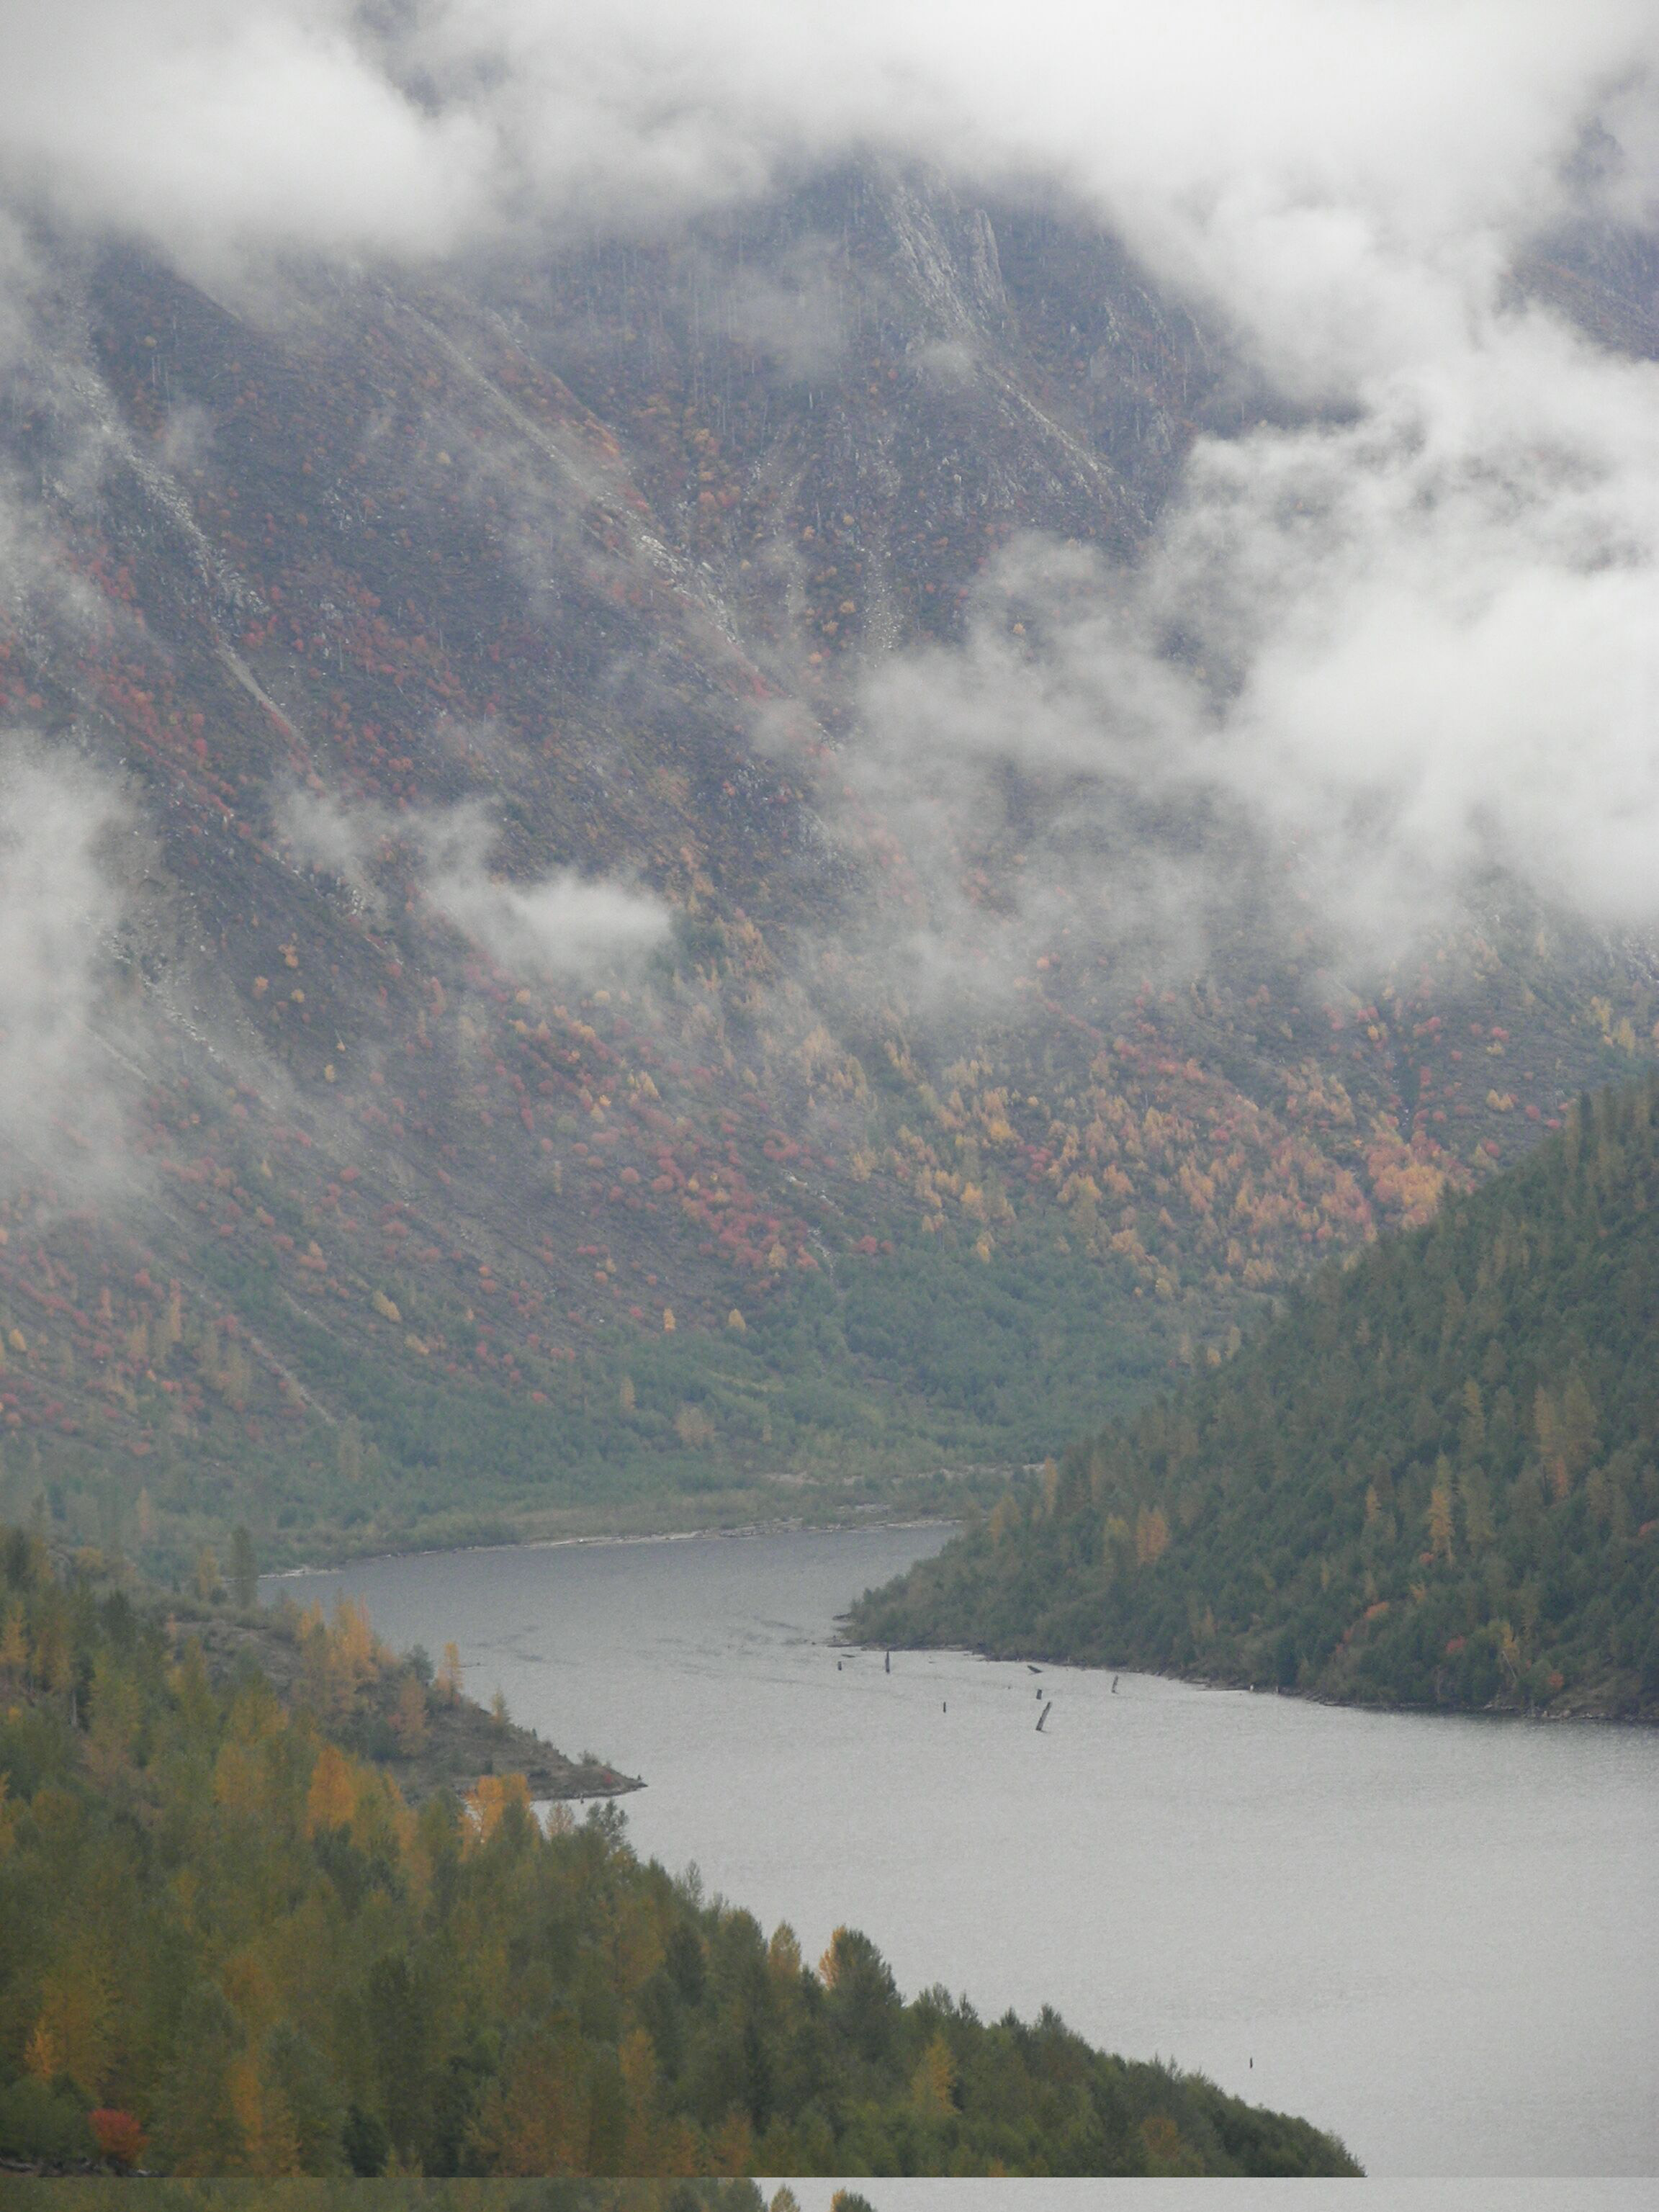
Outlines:
{"type": "Polygon", "coordinates": [[[1066,1451],[854,1613],[1371,1703],[1659,1717],[1659,1086],[1066,1451]]]}

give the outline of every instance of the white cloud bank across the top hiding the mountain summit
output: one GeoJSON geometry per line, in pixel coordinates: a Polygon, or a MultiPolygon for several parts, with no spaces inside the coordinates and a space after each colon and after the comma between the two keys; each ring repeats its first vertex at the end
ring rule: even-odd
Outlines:
{"type": "Polygon", "coordinates": [[[13,177],[161,246],[442,252],[887,144],[1064,173],[1283,365],[1433,343],[1601,115],[1652,186],[1644,0],[60,0],[0,22],[13,177]]]}

